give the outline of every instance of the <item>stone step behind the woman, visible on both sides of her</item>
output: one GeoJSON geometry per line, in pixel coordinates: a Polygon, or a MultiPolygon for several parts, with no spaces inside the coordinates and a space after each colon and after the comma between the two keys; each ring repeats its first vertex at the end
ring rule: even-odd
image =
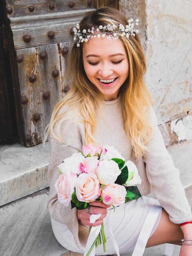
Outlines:
{"type": "MultiPolygon", "coordinates": [[[[167,148],[180,170],[181,182],[192,204],[192,142],[183,141],[167,148]]],[[[25,148],[21,144],[0,148],[0,206],[49,186],[47,166],[49,143],[25,148]]]]}

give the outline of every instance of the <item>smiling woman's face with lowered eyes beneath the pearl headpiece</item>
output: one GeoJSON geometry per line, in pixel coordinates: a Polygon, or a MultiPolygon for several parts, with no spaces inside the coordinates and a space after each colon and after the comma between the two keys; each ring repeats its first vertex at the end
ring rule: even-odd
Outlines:
{"type": "Polygon", "coordinates": [[[127,52],[121,40],[89,39],[83,43],[83,65],[88,79],[100,90],[105,101],[116,99],[129,75],[127,52]]]}

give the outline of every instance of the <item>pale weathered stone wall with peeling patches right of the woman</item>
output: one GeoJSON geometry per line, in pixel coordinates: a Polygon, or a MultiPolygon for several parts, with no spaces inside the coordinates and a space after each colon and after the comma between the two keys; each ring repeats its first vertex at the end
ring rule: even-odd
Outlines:
{"type": "Polygon", "coordinates": [[[140,20],[145,82],[157,118],[165,124],[165,144],[192,140],[192,2],[120,0],[119,9],[140,20]]]}

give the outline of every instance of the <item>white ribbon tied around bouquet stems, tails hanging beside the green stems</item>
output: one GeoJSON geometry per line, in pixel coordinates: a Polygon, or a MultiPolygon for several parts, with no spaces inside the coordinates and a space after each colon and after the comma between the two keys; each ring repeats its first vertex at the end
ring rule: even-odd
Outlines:
{"type": "MultiPolygon", "coordinates": [[[[92,214],[90,216],[90,223],[94,223],[98,218],[100,218],[101,216],[101,213],[100,214],[92,214]]],[[[106,216],[105,217],[105,220],[106,220],[106,226],[107,226],[107,230],[109,232],[109,236],[112,240],[112,243],[114,245],[114,248],[115,248],[115,251],[116,251],[116,254],[118,256],[119,255],[119,249],[118,249],[118,244],[114,238],[114,235],[113,235],[113,231],[112,231],[112,226],[110,224],[110,221],[109,221],[109,216],[106,216]]],[[[92,227],[90,233],[89,233],[89,237],[88,237],[88,240],[87,240],[87,245],[85,247],[85,252],[84,252],[84,256],[87,255],[87,253],[89,252],[89,249],[92,247],[94,241],[96,240],[96,238],[98,237],[98,234],[100,232],[100,229],[101,229],[101,225],[98,225],[96,227],[92,227]]],[[[89,254],[89,256],[95,256],[95,246],[94,248],[92,249],[92,252],[89,254]]]]}

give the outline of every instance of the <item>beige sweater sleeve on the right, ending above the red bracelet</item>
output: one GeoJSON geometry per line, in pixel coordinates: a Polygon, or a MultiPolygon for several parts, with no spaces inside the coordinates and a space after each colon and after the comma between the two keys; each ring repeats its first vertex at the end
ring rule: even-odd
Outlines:
{"type": "Polygon", "coordinates": [[[154,133],[147,144],[150,152],[145,153],[143,159],[154,196],[172,222],[179,224],[192,220],[191,207],[179,179],[179,170],[175,168],[172,157],[165,148],[153,108],[150,110],[150,124],[154,133]]]}

